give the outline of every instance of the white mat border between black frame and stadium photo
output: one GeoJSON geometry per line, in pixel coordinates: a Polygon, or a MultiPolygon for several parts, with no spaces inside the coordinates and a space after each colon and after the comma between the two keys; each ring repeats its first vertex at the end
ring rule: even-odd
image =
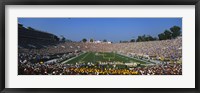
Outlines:
{"type": "Polygon", "coordinates": [[[5,88],[195,88],[194,5],[6,5],[5,88]],[[182,75],[17,75],[18,17],[182,18],[182,75]]]}

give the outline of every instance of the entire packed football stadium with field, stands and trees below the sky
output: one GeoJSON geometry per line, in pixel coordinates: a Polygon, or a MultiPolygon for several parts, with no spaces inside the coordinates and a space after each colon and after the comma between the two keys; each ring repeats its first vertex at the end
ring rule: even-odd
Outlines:
{"type": "Polygon", "coordinates": [[[180,27],[170,30],[159,38],[73,41],[18,24],[18,75],[182,75],[180,27]]]}

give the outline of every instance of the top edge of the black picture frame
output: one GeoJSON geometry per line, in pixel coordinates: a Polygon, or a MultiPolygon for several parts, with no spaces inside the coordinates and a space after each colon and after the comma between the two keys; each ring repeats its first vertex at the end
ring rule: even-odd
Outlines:
{"type": "Polygon", "coordinates": [[[195,5],[199,0],[6,0],[11,5],[195,5]]]}

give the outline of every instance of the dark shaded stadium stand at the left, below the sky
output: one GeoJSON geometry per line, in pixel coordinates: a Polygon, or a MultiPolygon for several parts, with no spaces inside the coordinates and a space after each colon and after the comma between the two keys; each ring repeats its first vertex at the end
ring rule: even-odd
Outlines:
{"type": "Polygon", "coordinates": [[[32,28],[25,28],[18,24],[19,48],[44,48],[58,43],[58,37],[32,28]]]}

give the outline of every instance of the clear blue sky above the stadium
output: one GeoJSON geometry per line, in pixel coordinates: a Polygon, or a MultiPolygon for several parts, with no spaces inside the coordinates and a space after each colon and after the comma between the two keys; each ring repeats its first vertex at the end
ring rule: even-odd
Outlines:
{"type": "Polygon", "coordinates": [[[18,18],[18,23],[72,41],[130,41],[144,34],[158,37],[175,25],[182,28],[182,18],[18,18]]]}

